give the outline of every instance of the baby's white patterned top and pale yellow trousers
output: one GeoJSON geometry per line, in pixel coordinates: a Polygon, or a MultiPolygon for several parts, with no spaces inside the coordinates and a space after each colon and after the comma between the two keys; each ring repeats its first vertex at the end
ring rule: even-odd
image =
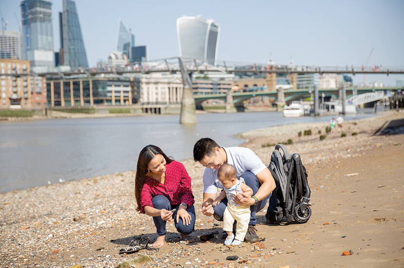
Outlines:
{"type": "Polygon", "coordinates": [[[245,234],[247,233],[248,223],[250,222],[251,210],[250,206],[240,206],[233,201],[233,197],[237,195],[237,192],[242,192],[241,183],[244,179],[240,177],[236,185],[230,188],[224,188],[227,197],[227,208],[223,213],[223,230],[233,231],[233,223],[237,221],[236,237],[239,241],[244,241],[245,234]]]}

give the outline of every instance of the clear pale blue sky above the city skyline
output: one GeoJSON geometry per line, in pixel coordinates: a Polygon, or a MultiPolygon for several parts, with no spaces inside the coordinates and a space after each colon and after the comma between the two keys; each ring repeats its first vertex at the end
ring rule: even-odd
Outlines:
{"type": "MultiPolygon", "coordinates": [[[[148,59],[179,55],[176,19],[197,16],[220,25],[218,59],[297,65],[404,66],[403,0],[76,0],[90,66],[116,50],[118,23],[132,29],[136,45],[147,45],[148,59]]],[[[18,31],[20,0],[0,0],[7,30],[18,31]]],[[[58,12],[52,0],[55,51],[58,12]]],[[[404,75],[368,75],[367,82],[395,86],[404,75]]],[[[362,75],[354,77],[362,81],[362,75]]]]}

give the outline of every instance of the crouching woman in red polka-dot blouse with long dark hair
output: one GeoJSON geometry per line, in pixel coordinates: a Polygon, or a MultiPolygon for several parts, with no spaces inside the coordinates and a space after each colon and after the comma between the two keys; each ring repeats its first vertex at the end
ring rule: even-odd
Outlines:
{"type": "Polygon", "coordinates": [[[183,238],[194,230],[191,177],[183,164],[167,157],[157,146],[147,145],[139,153],[135,198],[136,210],[153,217],[158,234],[153,247],[164,245],[166,221],[175,219],[175,228],[183,238]]]}

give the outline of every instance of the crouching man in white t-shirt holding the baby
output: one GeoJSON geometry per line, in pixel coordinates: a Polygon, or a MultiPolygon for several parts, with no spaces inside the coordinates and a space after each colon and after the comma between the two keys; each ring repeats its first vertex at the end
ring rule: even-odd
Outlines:
{"type": "Polygon", "coordinates": [[[248,148],[220,147],[211,138],[202,138],[194,145],[194,160],[205,167],[203,172],[203,202],[202,213],[206,216],[214,215],[218,221],[223,221],[223,213],[227,207],[227,199],[223,199],[216,207],[212,206],[218,192],[223,185],[218,179],[218,170],[223,164],[230,164],[236,169],[237,177],[242,177],[252,190],[253,195],[240,193],[235,198],[239,205],[251,206],[251,217],[248,225],[246,242],[257,242],[259,237],[255,228],[256,213],[262,210],[275,189],[275,181],[268,168],[258,156],[248,148]]]}

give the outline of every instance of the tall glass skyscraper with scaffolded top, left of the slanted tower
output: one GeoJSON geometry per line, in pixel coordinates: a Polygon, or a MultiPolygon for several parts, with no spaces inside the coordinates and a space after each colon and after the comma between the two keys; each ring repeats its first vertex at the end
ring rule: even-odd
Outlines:
{"type": "Polygon", "coordinates": [[[22,58],[30,61],[31,68],[55,66],[52,3],[49,0],[23,0],[22,58]]]}

